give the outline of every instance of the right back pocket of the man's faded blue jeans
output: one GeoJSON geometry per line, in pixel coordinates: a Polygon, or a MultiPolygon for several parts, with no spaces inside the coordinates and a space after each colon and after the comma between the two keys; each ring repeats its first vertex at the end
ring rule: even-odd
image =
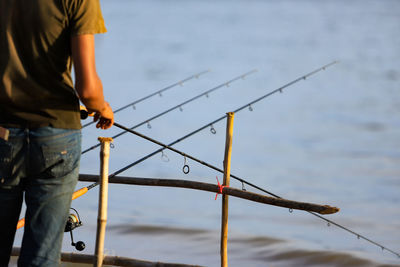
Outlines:
{"type": "Polygon", "coordinates": [[[79,166],[80,145],[76,138],[41,146],[43,178],[63,177],[79,166]]]}

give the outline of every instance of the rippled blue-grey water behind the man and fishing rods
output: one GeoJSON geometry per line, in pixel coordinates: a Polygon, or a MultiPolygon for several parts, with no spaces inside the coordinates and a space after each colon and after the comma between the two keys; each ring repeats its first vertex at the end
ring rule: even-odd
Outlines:
{"type": "MultiPolygon", "coordinates": [[[[194,73],[162,97],[118,113],[146,121],[254,68],[258,72],[138,131],[169,143],[332,60],[340,61],[235,116],[232,173],[282,197],[338,206],[329,219],[400,252],[400,2],[102,0],[108,33],[97,64],[111,105],[121,107],[194,73]]],[[[225,122],[176,147],[222,168],[225,122]]],[[[84,129],[84,148],[112,129],[84,129]]],[[[110,171],[158,147],[115,139],[110,171]]],[[[166,152],[122,175],[216,183],[222,175],[166,152]]],[[[98,173],[98,152],[82,173],[98,173]]],[[[86,184],[82,183],[80,186],[86,184]]],[[[231,186],[241,188],[235,181],[231,186]]],[[[246,187],[247,190],[253,190],[246,187]]],[[[94,250],[97,189],[77,199],[94,250]]],[[[107,253],[219,265],[220,202],[193,190],[111,185],[107,253]]],[[[305,212],[230,199],[230,266],[400,266],[400,258],[305,212]]],[[[20,238],[21,233],[18,233],[20,238]]],[[[69,236],[64,251],[72,251],[69,236]]]]}

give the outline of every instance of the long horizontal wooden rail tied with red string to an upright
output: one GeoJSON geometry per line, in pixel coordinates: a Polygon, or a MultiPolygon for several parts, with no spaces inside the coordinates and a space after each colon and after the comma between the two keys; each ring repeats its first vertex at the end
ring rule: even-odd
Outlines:
{"type": "MultiPolygon", "coordinates": [[[[99,179],[98,175],[92,174],[80,174],[79,181],[82,182],[97,182],[99,179]]],[[[196,189],[202,191],[208,191],[213,193],[219,192],[219,187],[216,184],[209,184],[203,182],[195,182],[181,179],[159,179],[159,178],[140,178],[140,177],[127,177],[127,176],[114,176],[109,179],[110,183],[115,184],[132,184],[132,185],[144,185],[144,186],[164,186],[164,187],[179,187],[196,189]]],[[[265,195],[256,194],[250,191],[243,191],[242,189],[236,189],[233,187],[224,187],[223,193],[247,199],[254,202],[263,204],[279,206],[294,210],[305,210],[312,211],[319,214],[333,214],[339,211],[339,208],[331,207],[328,205],[313,204],[307,202],[298,202],[293,200],[287,200],[284,198],[268,197],[265,195]]]]}

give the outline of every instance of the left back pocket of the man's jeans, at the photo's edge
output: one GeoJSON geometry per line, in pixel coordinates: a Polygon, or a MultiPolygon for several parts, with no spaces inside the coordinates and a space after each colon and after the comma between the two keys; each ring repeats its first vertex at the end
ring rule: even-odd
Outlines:
{"type": "Polygon", "coordinates": [[[7,187],[13,184],[12,174],[12,145],[0,140],[0,187],[7,187]]]}

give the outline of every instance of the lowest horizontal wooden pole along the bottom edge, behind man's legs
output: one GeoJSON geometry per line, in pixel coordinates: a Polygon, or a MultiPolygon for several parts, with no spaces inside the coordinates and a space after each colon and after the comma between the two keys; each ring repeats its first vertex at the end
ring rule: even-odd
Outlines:
{"type": "MultiPolygon", "coordinates": [[[[14,247],[11,256],[19,256],[20,248],[14,247]]],[[[61,261],[73,263],[86,263],[91,264],[94,261],[94,255],[76,254],[76,253],[61,253],[61,261]]],[[[198,265],[187,265],[178,263],[164,263],[164,262],[151,262],[127,257],[118,256],[105,256],[103,260],[104,265],[112,266],[135,266],[135,267],[197,267],[198,265]]]]}

